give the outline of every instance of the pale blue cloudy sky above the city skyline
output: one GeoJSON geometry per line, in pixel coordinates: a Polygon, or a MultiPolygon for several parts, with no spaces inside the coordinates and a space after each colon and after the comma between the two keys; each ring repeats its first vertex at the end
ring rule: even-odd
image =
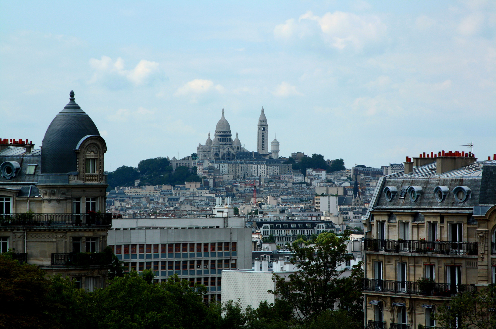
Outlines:
{"type": "Polygon", "coordinates": [[[496,153],[496,1],[1,1],[0,138],[76,103],[106,170],[233,139],[380,167],[496,153]]]}

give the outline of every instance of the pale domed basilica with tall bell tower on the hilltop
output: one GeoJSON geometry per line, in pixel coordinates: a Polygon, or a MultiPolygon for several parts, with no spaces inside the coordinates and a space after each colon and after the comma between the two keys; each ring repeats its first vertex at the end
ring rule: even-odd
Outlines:
{"type": "MultiPolygon", "coordinates": [[[[275,141],[275,140],[274,140],[275,141]]],[[[279,147],[277,147],[279,149],[279,147]]],[[[269,143],[268,143],[268,124],[267,118],[262,107],[257,125],[257,152],[249,152],[243,146],[236,133],[236,138],[232,139],[231,126],[227,122],[222,108],[222,116],[217,122],[213,139],[208,138],[205,145],[198,144],[196,148],[198,160],[247,160],[248,158],[263,158],[268,159],[269,143]]]]}

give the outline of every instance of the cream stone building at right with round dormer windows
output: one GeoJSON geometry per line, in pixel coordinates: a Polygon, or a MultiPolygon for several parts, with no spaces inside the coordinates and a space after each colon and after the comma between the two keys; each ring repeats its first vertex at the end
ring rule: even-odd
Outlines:
{"type": "Polygon", "coordinates": [[[423,154],[379,179],[364,220],[368,329],[434,328],[442,303],[495,282],[496,161],[476,160],[423,154]]]}

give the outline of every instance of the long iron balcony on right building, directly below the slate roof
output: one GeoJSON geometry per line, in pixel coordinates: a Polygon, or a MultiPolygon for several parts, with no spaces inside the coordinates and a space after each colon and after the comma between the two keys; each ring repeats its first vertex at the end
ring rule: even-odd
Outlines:
{"type": "Polygon", "coordinates": [[[477,242],[364,239],[365,251],[437,255],[476,255],[477,242]]]}

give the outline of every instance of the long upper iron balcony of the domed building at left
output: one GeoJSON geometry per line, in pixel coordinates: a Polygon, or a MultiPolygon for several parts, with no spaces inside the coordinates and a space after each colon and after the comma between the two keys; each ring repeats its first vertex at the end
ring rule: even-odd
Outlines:
{"type": "Polygon", "coordinates": [[[72,226],[112,225],[112,214],[8,214],[0,215],[0,225],[72,226]]]}

